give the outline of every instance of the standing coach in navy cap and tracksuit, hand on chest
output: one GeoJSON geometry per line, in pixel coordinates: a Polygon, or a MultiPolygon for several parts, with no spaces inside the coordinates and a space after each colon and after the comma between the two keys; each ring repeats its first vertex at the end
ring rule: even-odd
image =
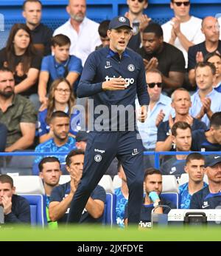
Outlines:
{"type": "Polygon", "coordinates": [[[80,220],[91,192],[115,156],[127,175],[128,223],[138,223],[140,219],[143,144],[136,131],[134,101],[137,95],[141,105],[138,118],[144,121],[150,98],[143,60],[126,49],[131,30],[128,18],[113,18],[108,30],[110,46],[91,53],[85,62],[77,96],[93,99],[94,127],[88,135],[83,177],[71,201],[68,223],[80,220]]]}

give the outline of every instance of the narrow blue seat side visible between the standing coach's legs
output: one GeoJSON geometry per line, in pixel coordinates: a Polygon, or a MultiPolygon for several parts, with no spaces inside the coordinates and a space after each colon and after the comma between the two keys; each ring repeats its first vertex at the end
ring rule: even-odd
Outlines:
{"type": "Polygon", "coordinates": [[[102,223],[113,226],[116,224],[116,195],[106,193],[105,211],[102,223]]]}

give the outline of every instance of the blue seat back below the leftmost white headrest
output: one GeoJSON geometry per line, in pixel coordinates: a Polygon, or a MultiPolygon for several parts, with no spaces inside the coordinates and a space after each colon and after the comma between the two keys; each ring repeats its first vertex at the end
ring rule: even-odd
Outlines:
{"type": "Polygon", "coordinates": [[[31,210],[31,225],[32,226],[45,226],[46,221],[46,201],[43,195],[24,195],[19,194],[29,201],[31,210]]]}

